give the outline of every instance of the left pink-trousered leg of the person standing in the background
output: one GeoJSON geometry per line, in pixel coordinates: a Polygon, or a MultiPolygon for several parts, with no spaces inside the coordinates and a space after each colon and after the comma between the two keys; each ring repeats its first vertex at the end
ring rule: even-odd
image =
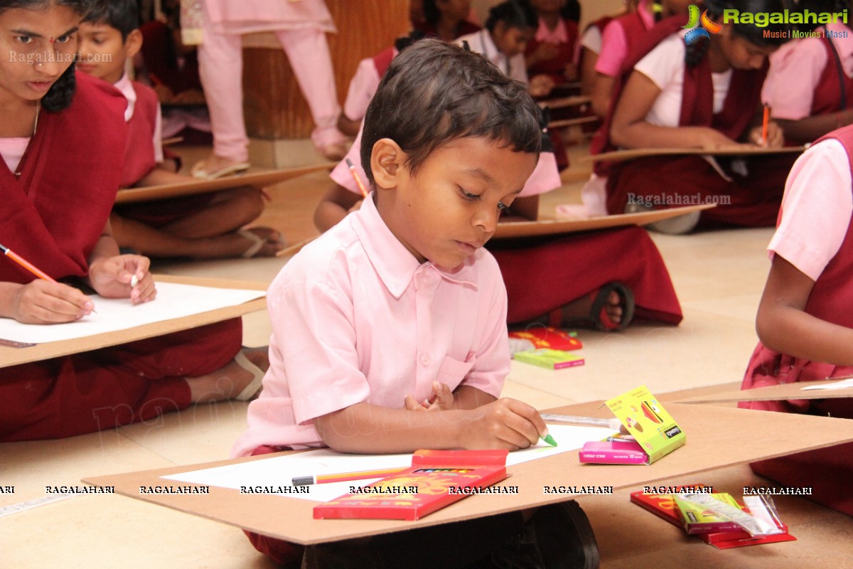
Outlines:
{"type": "Polygon", "coordinates": [[[211,116],[213,154],[228,162],[246,162],[249,139],[243,120],[241,37],[214,32],[205,22],[199,46],[199,75],[211,116]]]}

